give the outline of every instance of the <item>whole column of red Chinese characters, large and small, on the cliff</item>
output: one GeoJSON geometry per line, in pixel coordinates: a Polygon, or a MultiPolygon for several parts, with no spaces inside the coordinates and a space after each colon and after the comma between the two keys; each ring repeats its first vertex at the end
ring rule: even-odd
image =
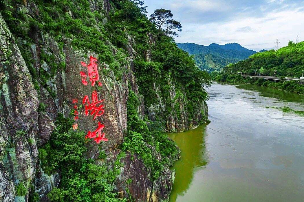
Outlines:
{"type": "MultiPolygon", "coordinates": [[[[84,71],[80,71],[80,76],[81,76],[81,82],[84,85],[88,85],[88,81],[86,80],[87,77],[89,77],[89,81],[91,82],[91,88],[93,90],[93,88],[95,88],[95,82],[98,82],[99,86],[102,86],[101,82],[98,81],[99,80],[99,74],[98,74],[98,69],[97,69],[97,59],[90,56],[90,64],[87,65],[85,62],[81,62],[81,65],[84,67],[87,67],[88,69],[88,75],[84,72],[84,71]]],[[[78,100],[74,102],[75,99],[73,99],[73,104],[74,105],[74,115],[75,115],[75,120],[76,120],[76,116],[78,119],[78,111],[77,109],[77,104],[78,100]]],[[[102,114],[104,114],[105,109],[104,109],[104,105],[102,104],[102,102],[104,101],[104,99],[99,100],[98,99],[98,93],[96,90],[93,90],[92,92],[92,96],[91,96],[91,101],[89,99],[88,95],[85,95],[85,97],[82,100],[82,104],[85,104],[85,115],[91,115],[93,116],[93,120],[95,120],[98,116],[101,116],[102,114]]],[[[100,122],[98,122],[98,127],[95,131],[88,131],[87,135],[85,136],[85,138],[94,138],[94,141],[99,144],[101,141],[108,141],[107,138],[105,138],[105,133],[102,132],[102,130],[105,128],[104,124],[101,124],[100,122]]]]}

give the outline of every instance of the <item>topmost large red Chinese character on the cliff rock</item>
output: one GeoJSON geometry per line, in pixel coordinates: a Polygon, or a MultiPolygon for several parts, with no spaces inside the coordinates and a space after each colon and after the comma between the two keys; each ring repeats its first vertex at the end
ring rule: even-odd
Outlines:
{"type": "MultiPolygon", "coordinates": [[[[97,59],[94,58],[93,56],[90,56],[90,64],[87,65],[85,62],[80,62],[82,66],[88,68],[88,76],[89,76],[89,81],[91,82],[91,86],[95,85],[95,82],[99,80],[99,74],[98,74],[98,69],[97,69],[97,59]]],[[[83,71],[80,72],[81,76],[81,82],[84,85],[88,85],[88,82],[86,81],[87,79],[87,74],[83,71]]],[[[101,82],[98,81],[98,85],[102,86],[101,82]]]]}

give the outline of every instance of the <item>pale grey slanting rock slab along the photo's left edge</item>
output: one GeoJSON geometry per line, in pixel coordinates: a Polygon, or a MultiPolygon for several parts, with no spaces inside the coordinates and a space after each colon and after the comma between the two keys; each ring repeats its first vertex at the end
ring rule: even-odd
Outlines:
{"type": "Polygon", "coordinates": [[[29,70],[1,14],[0,72],[0,200],[12,201],[14,186],[23,183],[29,188],[35,177],[37,145],[28,142],[37,135],[39,101],[29,70]]]}

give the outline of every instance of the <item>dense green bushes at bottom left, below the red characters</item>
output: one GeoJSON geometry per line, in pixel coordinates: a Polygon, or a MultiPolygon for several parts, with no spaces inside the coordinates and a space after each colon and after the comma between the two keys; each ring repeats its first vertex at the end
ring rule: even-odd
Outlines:
{"type": "Polygon", "coordinates": [[[41,166],[47,174],[59,169],[61,181],[48,197],[51,201],[125,201],[113,193],[113,182],[122,164],[119,154],[114,170],[95,164],[86,156],[84,133],[73,131],[70,119],[61,114],[50,140],[39,149],[41,166]]]}

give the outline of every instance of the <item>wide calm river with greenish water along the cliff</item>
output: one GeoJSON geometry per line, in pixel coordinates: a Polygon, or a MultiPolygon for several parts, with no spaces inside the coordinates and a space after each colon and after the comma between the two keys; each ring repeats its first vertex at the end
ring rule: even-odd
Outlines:
{"type": "Polygon", "coordinates": [[[304,96],[214,82],[210,124],[181,149],[170,201],[304,201],[304,96]]]}

